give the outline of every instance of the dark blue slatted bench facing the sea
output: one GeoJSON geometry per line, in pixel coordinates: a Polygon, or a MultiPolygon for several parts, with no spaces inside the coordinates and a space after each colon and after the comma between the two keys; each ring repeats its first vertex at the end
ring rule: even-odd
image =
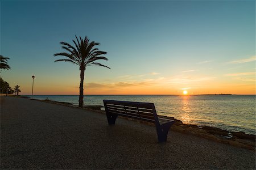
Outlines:
{"type": "Polygon", "coordinates": [[[168,131],[174,120],[160,118],[156,114],[154,103],[103,100],[109,125],[114,125],[118,116],[135,118],[155,124],[159,142],[166,142],[168,131]]]}

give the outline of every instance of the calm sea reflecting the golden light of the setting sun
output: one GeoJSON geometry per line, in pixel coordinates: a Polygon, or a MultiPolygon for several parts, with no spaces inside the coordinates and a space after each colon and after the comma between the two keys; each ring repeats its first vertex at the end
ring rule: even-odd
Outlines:
{"type": "MultiPolygon", "coordinates": [[[[78,105],[77,95],[35,95],[78,105]]],[[[104,99],[154,103],[156,112],[184,124],[207,125],[229,131],[256,133],[255,95],[86,95],[85,105],[103,105],[104,99]]]]}

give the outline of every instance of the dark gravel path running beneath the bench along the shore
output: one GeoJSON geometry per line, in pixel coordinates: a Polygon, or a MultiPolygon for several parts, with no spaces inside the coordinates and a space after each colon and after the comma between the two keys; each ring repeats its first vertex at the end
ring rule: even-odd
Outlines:
{"type": "Polygon", "coordinates": [[[255,169],[255,152],[154,126],[15,97],[1,99],[1,169],[255,169]]]}

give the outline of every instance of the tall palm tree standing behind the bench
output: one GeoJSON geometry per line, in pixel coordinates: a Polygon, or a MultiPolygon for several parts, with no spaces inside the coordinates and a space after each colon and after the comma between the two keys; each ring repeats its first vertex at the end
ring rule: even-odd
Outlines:
{"type": "MultiPolygon", "coordinates": [[[[56,53],[54,56],[64,56],[67,57],[67,59],[57,59],[57,61],[65,61],[65,62],[71,62],[76,65],[79,65],[80,70],[80,86],[79,86],[79,107],[82,107],[84,104],[84,72],[86,67],[88,66],[102,66],[107,67],[105,65],[102,65],[101,63],[95,62],[98,59],[104,59],[108,61],[108,58],[103,57],[102,55],[106,54],[106,52],[102,52],[98,50],[98,48],[94,48],[96,45],[100,45],[100,43],[92,41],[89,42],[89,39],[87,36],[85,36],[85,39],[82,39],[80,37],[80,40],[76,36],[76,41],[73,40],[75,46],[72,46],[68,44],[67,42],[60,42],[60,45],[63,45],[61,48],[67,50],[67,52],[64,53],[56,53]]],[[[110,69],[110,68],[109,68],[110,69]]]]}

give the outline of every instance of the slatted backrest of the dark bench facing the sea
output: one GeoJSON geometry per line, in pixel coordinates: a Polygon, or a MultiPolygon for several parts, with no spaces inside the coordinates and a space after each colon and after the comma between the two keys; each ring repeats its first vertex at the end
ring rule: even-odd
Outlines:
{"type": "Polygon", "coordinates": [[[158,123],[154,103],[103,100],[106,113],[158,123]]]}

